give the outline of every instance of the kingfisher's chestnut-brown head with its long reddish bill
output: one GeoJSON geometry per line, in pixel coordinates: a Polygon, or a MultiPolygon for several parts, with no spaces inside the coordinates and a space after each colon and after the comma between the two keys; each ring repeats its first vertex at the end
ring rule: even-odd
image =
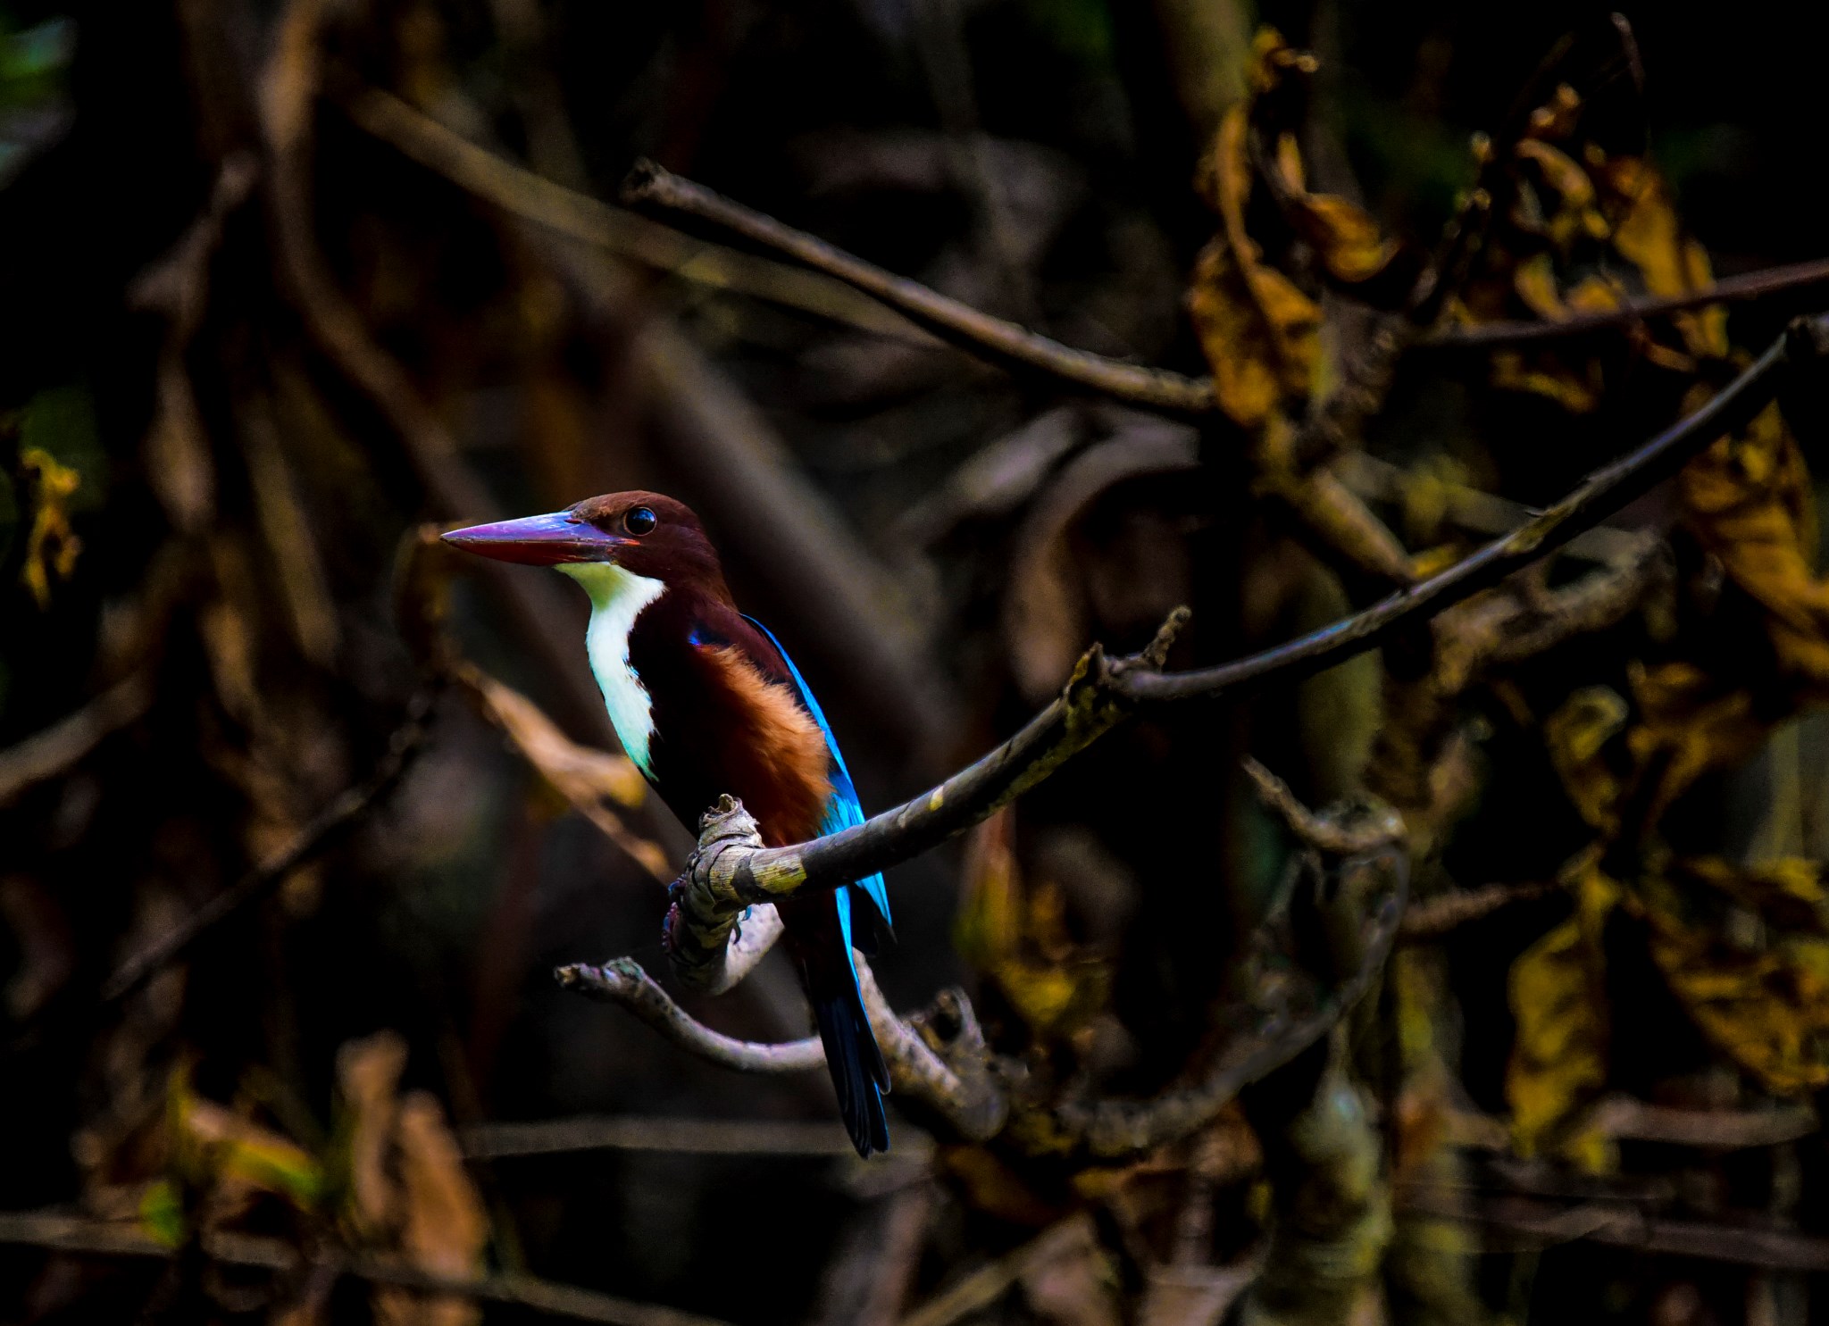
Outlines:
{"type": "Polygon", "coordinates": [[[585,497],[547,516],[452,530],[444,541],[497,561],[556,567],[574,576],[591,565],[611,565],[669,589],[728,596],[717,551],[699,518],[658,492],[585,497]]]}

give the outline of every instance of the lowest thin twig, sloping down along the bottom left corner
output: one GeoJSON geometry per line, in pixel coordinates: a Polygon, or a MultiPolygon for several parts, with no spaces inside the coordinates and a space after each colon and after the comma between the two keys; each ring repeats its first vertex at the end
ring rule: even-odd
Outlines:
{"type": "MultiPolygon", "coordinates": [[[[0,1213],[0,1244],[91,1256],[174,1258],[179,1253],[179,1249],[141,1233],[137,1225],[84,1220],[55,1211],[0,1213]]],[[[209,1233],[201,1238],[201,1251],[219,1266],[278,1271],[291,1278],[307,1264],[324,1264],[337,1275],[353,1275],[369,1284],[514,1304],[551,1317],[605,1322],[607,1326],[726,1326],[715,1317],[616,1299],[532,1275],[432,1275],[412,1266],[355,1253],[331,1253],[322,1262],[307,1262],[285,1240],[260,1235],[209,1233]]]]}

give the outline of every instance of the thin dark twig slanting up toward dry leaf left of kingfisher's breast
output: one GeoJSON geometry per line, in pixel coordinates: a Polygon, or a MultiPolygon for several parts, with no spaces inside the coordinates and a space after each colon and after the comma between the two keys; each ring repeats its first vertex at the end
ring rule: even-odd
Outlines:
{"type": "Polygon", "coordinates": [[[430,711],[432,695],[421,691],[408,702],[406,722],[388,737],[388,748],[366,779],[338,792],[285,847],[115,968],[102,984],[101,1000],[112,1004],[132,995],[154,973],[185,957],[225,920],[278,889],[298,867],[322,854],[355,827],[401,781],[401,775],[419,755],[430,711]]]}

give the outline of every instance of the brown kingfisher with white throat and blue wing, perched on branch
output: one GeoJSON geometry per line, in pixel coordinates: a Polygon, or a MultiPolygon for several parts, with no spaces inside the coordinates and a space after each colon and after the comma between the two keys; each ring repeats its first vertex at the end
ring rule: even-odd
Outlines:
{"type": "MultiPolygon", "coordinates": [[[[585,651],[622,748],[695,825],[721,794],[743,799],[770,847],[863,823],[832,728],[768,629],[730,598],[699,518],[657,492],[615,492],[551,516],[444,536],[468,552],[554,567],[591,596],[585,651]]],[[[869,951],[867,898],[889,922],[883,876],[781,900],[825,1043],[838,1108],[860,1156],[889,1149],[883,1063],[850,957],[869,951]]]]}

